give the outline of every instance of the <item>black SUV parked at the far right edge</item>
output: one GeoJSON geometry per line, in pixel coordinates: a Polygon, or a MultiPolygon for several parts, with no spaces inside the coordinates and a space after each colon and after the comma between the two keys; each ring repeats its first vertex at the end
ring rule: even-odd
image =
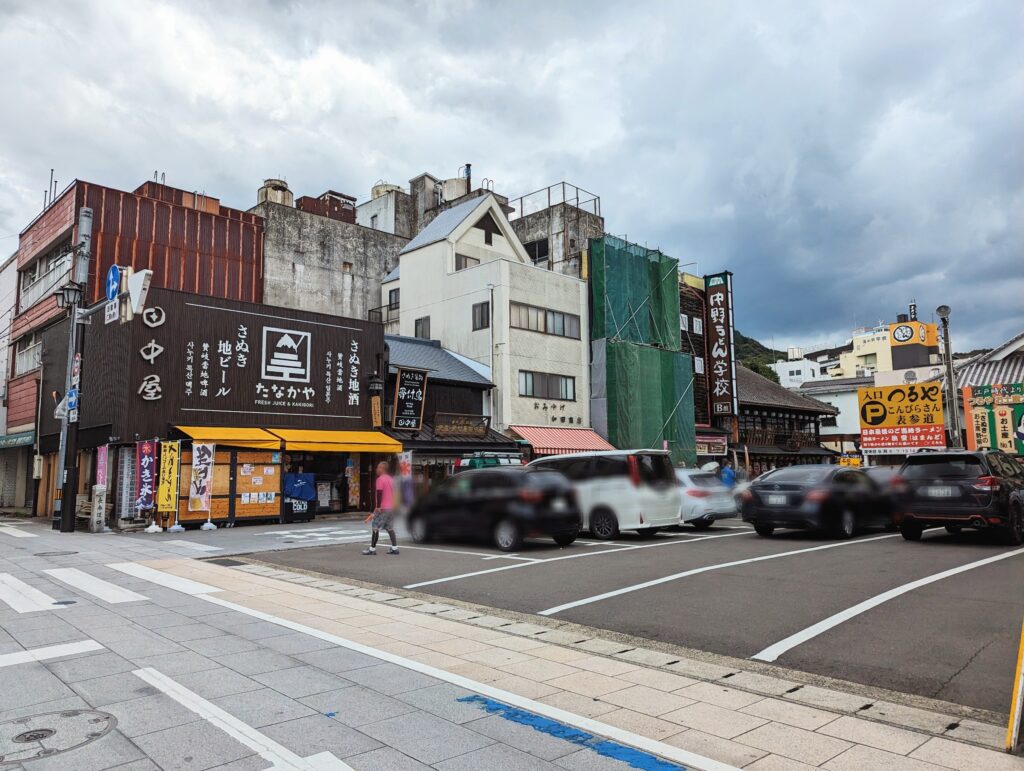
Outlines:
{"type": "Polygon", "coordinates": [[[893,480],[896,521],[903,538],[920,541],[926,527],[998,530],[1024,543],[1024,465],[999,451],[919,453],[893,480]]]}

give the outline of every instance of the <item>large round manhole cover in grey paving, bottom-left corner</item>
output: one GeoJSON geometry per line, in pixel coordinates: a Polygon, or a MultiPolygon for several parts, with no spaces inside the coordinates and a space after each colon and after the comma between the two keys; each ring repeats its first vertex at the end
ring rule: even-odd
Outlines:
{"type": "Polygon", "coordinates": [[[110,713],[69,710],[0,723],[0,764],[31,763],[105,736],[118,724],[110,713]]]}

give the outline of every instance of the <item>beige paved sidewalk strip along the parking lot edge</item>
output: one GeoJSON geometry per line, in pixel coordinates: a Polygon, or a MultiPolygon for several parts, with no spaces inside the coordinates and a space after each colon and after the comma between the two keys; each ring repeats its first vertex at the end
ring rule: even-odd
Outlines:
{"type": "Polygon", "coordinates": [[[986,723],[221,561],[145,564],[200,582],[212,602],[627,744],[645,738],[691,767],[715,767],[702,757],[750,769],[1024,769],[991,748],[1001,730],[986,723]]]}

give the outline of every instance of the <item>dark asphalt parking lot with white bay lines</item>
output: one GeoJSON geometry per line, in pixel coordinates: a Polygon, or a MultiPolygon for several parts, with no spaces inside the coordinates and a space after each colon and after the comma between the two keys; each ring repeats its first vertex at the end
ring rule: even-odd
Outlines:
{"type": "Polygon", "coordinates": [[[566,549],[527,542],[511,556],[406,541],[397,557],[364,557],[362,543],[346,543],[259,558],[1008,711],[1024,549],[973,532],[844,542],[800,531],[763,539],[726,524],[566,549]]]}

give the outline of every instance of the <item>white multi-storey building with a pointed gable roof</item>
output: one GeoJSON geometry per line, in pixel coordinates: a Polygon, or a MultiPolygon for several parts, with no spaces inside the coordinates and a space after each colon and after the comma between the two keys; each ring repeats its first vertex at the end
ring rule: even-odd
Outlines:
{"type": "Polygon", "coordinates": [[[572,429],[549,438],[590,446],[587,284],[535,266],[493,196],[441,212],[413,239],[381,304],[397,306],[398,334],[490,368],[495,428],[572,429]]]}

